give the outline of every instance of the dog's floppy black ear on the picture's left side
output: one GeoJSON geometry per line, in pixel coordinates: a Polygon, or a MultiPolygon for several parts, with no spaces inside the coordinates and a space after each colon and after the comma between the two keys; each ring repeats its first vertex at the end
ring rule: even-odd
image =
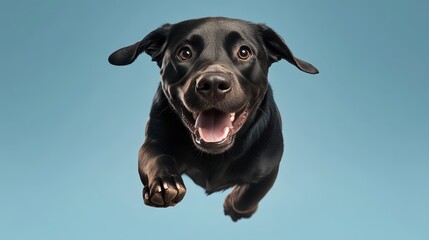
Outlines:
{"type": "Polygon", "coordinates": [[[146,52],[152,57],[152,61],[156,61],[158,66],[161,66],[170,28],[171,24],[164,24],[149,33],[140,42],[116,50],[109,56],[109,63],[117,66],[128,65],[134,62],[140,53],[146,52]]]}

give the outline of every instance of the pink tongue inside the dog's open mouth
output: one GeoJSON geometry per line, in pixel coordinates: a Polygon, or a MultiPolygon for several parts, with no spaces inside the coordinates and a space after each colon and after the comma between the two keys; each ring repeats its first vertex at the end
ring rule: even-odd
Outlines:
{"type": "Polygon", "coordinates": [[[211,109],[200,113],[195,127],[204,142],[220,142],[228,136],[232,123],[228,113],[211,109]]]}

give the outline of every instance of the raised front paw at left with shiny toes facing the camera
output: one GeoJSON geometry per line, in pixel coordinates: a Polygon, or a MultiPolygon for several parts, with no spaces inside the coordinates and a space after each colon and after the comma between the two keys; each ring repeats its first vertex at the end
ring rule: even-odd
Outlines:
{"type": "Polygon", "coordinates": [[[170,207],[180,202],[186,193],[178,175],[158,177],[143,188],[144,203],[152,207],[170,207]]]}

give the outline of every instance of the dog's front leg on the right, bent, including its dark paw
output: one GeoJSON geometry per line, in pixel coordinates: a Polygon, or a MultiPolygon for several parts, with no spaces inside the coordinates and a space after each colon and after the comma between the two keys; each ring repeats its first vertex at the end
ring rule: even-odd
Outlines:
{"type": "Polygon", "coordinates": [[[257,183],[234,187],[223,204],[225,215],[229,215],[234,222],[250,218],[256,212],[259,201],[273,186],[277,173],[278,167],[257,183]]]}

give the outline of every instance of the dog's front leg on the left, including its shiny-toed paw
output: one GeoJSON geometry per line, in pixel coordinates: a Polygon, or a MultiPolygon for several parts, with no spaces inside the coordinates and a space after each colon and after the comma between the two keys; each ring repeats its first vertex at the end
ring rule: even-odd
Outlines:
{"type": "Polygon", "coordinates": [[[180,202],[186,193],[176,160],[162,154],[162,147],[146,140],[139,152],[139,174],[144,185],[144,203],[152,207],[169,207],[180,202]]]}

